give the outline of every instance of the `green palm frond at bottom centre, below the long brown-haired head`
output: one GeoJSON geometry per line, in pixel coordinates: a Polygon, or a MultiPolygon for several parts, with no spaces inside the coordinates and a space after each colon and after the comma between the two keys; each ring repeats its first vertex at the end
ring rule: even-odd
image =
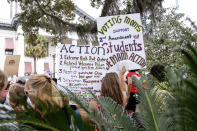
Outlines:
{"type": "Polygon", "coordinates": [[[82,109],[87,111],[89,118],[93,121],[100,130],[137,130],[134,125],[134,121],[127,116],[121,105],[117,104],[111,98],[100,97],[99,99],[91,92],[94,100],[98,103],[101,110],[97,108],[89,110],[87,101],[85,98],[80,98],[80,96],[75,95],[68,89],[67,93],[69,98],[76,104],[81,106],[82,109]],[[85,106],[83,101],[86,101],[85,106]]]}

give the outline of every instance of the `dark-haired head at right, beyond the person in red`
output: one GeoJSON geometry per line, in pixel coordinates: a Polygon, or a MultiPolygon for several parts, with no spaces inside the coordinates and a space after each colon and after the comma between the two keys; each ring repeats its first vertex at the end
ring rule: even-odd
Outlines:
{"type": "Polygon", "coordinates": [[[151,67],[150,74],[159,82],[165,81],[166,71],[162,64],[155,64],[151,67]]]}

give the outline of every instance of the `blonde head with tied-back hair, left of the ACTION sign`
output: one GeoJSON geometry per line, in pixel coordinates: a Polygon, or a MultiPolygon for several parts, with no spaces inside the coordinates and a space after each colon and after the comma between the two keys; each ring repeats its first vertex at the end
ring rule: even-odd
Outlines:
{"type": "Polygon", "coordinates": [[[33,105],[38,99],[43,102],[55,102],[63,107],[63,100],[56,88],[55,82],[47,75],[32,76],[25,84],[25,90],[33,105]]]}

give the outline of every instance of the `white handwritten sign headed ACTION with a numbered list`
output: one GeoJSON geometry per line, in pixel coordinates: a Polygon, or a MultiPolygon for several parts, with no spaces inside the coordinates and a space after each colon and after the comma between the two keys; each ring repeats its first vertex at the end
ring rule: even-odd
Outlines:
{"type": "Polygon", "coordinates": [[[61,44],[59,50],[58,88],[90,98],[88,90],[100,93],[105,75],[106,50],[100,46],[61,44]]]}

